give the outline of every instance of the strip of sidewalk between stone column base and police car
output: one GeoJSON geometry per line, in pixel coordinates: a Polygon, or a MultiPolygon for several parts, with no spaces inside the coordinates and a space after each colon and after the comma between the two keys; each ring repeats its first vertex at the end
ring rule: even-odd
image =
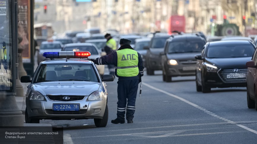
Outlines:
{"type": "Polygon", "coordinates": [[[26,109],[26,93],[27,93],[27,86],[29,83],[21,83],[23,86],[23,96],[16,96],[16,103],[18,108],[22,111],[22,114],[25,114],[25,109],[26,109]]]}

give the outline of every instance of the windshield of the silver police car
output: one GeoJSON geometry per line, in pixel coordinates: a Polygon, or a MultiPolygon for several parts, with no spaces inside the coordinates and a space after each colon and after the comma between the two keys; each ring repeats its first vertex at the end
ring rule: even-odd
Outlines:
{"type": "Polygon", "coordinates": [[[91,64],[42,64],[35,82],[49,81],[99,82],[91,64]]]}

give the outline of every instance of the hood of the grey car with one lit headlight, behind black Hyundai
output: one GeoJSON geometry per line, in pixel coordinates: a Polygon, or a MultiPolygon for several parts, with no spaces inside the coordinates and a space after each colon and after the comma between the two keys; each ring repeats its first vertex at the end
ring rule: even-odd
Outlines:
{"type": "Polygon", "coordinates": [[[187,61],[192,60],[196,61],[195,56],[200,55],[201,52],[198,53],[176,53],[176,54],[167,54],[168,59],[174,59],[179,61],[187,61]]]}

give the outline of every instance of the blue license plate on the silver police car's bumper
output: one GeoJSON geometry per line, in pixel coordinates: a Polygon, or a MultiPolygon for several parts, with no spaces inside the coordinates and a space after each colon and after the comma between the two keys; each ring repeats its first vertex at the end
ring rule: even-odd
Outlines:
{"type": "Polygon", "coordinates": [[[80,104],[53,104],[53,111],[79,111],[80,104]]]}

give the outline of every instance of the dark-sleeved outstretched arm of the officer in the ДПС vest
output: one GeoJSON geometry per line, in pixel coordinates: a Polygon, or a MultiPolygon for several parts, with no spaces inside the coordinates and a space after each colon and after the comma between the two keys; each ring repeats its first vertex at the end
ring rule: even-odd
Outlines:
{"type": "Polygon", "coordinates": [[[96,58],[95,63],[97,65],[104,65],[104,64],[107,64],[107,65],[109,65],[109,64],[117,65],[117,53],[116,52],[112,52],[109,55],[96,58]]]}

